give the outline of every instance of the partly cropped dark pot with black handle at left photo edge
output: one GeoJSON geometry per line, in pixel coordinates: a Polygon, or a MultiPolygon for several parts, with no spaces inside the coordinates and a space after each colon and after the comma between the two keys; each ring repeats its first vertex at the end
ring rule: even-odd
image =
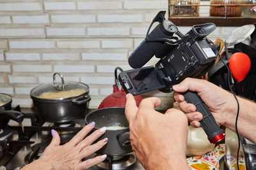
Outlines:
{"type": "Polygon", "coordinates": [[[0,129],[4,129],[9,120],[22,122],[23,115],[19,111],[12,110],[12,96],[8,94],[0,94],[0,129]]]}

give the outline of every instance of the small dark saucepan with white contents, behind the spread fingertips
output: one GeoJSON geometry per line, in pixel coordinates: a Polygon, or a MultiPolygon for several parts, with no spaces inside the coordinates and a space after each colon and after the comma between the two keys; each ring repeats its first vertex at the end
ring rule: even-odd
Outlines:
{"type": "Polygon", "coordinates": [[[132,153],[129,124],[125,118],[124,111],[124,108],[117,107],[102,108],[86,115],[86,124],[95,122],[93,131],[101,127],[107,127],[106,133],[97,139],[99,141],[108,138],[108,143],[96,152],[99,155],[107,154],[108,157],[113,157],[113,160],[118,160],[132,153]]]}

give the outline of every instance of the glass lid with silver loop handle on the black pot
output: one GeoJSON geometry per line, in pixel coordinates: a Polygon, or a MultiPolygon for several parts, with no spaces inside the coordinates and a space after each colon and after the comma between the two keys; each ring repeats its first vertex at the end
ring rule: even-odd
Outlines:
{"type": "Polygon", "coordinates": [[[53,83],[39,85],[31,90],[31,97],[40,99],[63,100],[88,94],[88,85],[81,82],[64,82],[64,78],[60,73],[53,74],[53,83]],[[56,83],[56,75],[61,78],[61,83],[56,83]]]}

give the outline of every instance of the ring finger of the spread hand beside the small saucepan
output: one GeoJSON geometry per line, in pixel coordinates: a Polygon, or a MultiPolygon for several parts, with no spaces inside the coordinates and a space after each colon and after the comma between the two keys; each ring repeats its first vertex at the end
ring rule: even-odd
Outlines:
{"type": "Polygon", "coordinates": [[[97,152],[97,150],[100,150],[100,148],[106,145],[106,143],[108,143],[108,138],[104,138],[93,145],[84,147],[79,153],[79,157],[81,159],[84,159],[85,157],[92,155],[92,153],[95,153],[97,152]]]}

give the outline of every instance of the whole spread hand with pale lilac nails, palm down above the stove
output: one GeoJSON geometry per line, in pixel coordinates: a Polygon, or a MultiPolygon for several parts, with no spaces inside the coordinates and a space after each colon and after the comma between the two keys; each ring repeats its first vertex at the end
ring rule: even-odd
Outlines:
{"type": "Polygon", "coordinates": [[[98,139],[106,132],[106,127],[93,132],[88,137],[84,138],[92,131],[95,123],[92,122],[86,125],[65,145],[60,145],[60,136],[57,131],[52,129],[52,141],[44,153],[38,159],[23,167],[24,169],[86,169],[106,159],[106,155],[100,155],[93,159],[84,160],[102,146],[106,145],[108,138],[104,138],[97,143],[93,141],[98,139]]]}

